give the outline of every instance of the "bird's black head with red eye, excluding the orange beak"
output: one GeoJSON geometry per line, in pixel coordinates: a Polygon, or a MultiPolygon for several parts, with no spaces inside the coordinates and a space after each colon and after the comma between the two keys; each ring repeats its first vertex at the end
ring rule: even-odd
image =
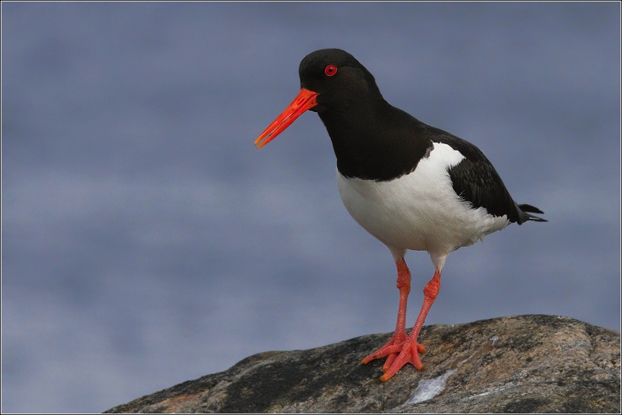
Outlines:
{"type": "Polygon", "coordinates": [[[374,76],[341,49],[320,49],[305,56],[298,69],[300,86],[319,93],[311,111],[345,109],[352,104],[384,101],[374,76]]]}

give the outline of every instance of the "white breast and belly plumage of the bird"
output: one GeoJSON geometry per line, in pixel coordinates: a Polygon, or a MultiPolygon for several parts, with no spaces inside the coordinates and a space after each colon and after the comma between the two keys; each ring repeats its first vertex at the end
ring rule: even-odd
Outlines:
{"type": "Polygon", "coordinates": [[[447,169],[464,156],[434,143],[414,172],[391,181],[349,179],[337,171],[337,187],[352,217],[389,249],[446,255],[503,229],[507,216],[473,209],[455,194],[447,169]]]}

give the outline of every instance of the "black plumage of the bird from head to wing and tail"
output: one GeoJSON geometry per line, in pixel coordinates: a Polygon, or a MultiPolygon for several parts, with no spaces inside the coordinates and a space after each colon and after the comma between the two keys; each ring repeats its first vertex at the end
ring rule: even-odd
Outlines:
{"type": "Polygon", "coordinates": [[[448,169],[453,190],[473,207],[484,207],[511,222],[545,221],[526,212],[542,213],[530,205],[517,205],[484,153],[473,144],[389,104],[374,76],[353,56],[340,49],[309,54],[299,68],[301,87],[319,92],[316,111],[324,123],[345,177],[391,181],[416,169],[432,143],[448,144],[464,159],[448,169]],[[339,68],[328,79],[327,63],[339,68]],[[524,207],[522,207],[524,206],[524,207]]]}

